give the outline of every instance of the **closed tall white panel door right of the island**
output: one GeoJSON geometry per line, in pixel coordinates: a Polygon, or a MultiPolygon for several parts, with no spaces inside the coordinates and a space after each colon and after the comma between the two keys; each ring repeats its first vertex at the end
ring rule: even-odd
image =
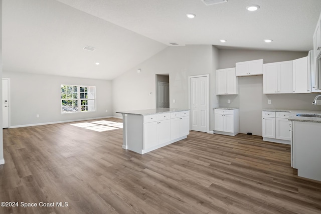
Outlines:
{"type": "Polygon", "coordinates": [[[208,76],[190,79],[191,130],[208,132],[208,76]]]}

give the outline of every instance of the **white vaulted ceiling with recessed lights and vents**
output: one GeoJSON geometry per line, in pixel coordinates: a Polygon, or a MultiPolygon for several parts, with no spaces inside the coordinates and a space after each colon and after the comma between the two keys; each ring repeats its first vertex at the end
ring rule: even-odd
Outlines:
{"type": "Polygon", "coordinates": [[[320,0],[3,1],[3,70],[112,80],[169,43],[308,51],[320,12],[320,0]]]}

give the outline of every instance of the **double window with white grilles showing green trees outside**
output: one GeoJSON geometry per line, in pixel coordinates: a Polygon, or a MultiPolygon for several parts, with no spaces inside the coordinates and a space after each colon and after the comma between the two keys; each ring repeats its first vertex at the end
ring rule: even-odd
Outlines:
{"type": "Polygon", "coordinates": [[[61,113],[95,111],[95,86],[61,85],[61,113]]]}

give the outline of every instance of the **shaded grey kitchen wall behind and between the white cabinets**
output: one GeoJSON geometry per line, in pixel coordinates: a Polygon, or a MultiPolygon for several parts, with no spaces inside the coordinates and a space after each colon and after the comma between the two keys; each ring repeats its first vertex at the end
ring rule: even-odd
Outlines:
{"type": "MultiPolygon", "coordinates": [[[[219,69],[235,67],[236,62],[263,59],[264,63],[294,60],[307,52],[219,50],[219,69]]],[[[221,107],[238,107],[240,132],[262,136],[262,109],[321,110],[311,105],[317,94],[263,94],[263,76],[239,77],[239,95],[219,95],[221,107]],[[228,104],[227,100],[231,103],[228,104]],[[267,104],[271,99],[272,104],[267,104]]]]}

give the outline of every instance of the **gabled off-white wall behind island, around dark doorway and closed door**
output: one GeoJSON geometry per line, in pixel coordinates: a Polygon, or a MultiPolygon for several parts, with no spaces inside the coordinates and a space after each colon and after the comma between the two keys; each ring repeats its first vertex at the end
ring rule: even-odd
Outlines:
{"type": "MultiPolygon", "coordinates": [[[[213,71],[217,58],[218,50],[211,45],[166,48],[112,81],[114,112],[155,108],[156,74],[170,76],[170,108],[186,109],[189,108],[188,77],[210,74],[212,109],[212,94],[215,93],[213,71]],[[137,73],[137,69],[141,69],[141,73],[137,73]]],[[[209,112],[212,118],[212,110],[209,112]]],[[[120,114],[114,115],[121,117],[120,114]]],[[[210,130],[213,130],[211,121],[210,130]]]]}

